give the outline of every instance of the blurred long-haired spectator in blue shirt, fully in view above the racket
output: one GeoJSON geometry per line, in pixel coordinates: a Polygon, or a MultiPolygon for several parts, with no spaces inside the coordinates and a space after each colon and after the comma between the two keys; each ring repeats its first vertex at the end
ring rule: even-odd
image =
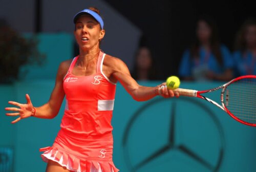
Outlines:
{"type": "Polygon", "coordinates": [[[215,22],[200,18],[195,42],[183,53],[179,76],[184,80],[229,80],[233,65],[229,50],[220,44],[215,22]]]}

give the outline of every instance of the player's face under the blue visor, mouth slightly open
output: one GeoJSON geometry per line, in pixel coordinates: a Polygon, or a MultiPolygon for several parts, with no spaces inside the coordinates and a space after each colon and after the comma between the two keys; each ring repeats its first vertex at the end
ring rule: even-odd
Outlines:
{"type": "Polygon", "coordinates": [[[74,35],[82,50],[91,50],[99,47],[105,31],[101,30],[99,23],[90,15],[80,16],[75,24],[74,35]]]}

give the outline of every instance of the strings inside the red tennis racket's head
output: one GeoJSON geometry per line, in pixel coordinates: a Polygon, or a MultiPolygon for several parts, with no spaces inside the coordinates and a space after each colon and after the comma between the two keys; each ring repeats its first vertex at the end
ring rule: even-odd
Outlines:
{"type": "Polygon", "coordinates": [[[248,123],[256,123],[256,77],[244,78],[228,85],[224,104],[234,116],[248,123]]]}

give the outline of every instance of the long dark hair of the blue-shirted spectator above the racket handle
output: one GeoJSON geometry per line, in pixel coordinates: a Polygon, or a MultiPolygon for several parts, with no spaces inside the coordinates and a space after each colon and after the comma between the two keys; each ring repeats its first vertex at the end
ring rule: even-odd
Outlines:
{"type": "MultiPolygon", "coordinates": [[[[217,24],[208,16],[201,16],[197,20],[197,25],[199,21],[205,22],[211,29],[211,35],[210,35],[210,49],[211,52],[216,56],[217,61],[219,64],[222,64],[222,55],[220,50],[220,41],[219,41],[219,33],[217,24]]],[[[194,44],[190,48],[190,54],[193,58],[199,58],[199,48],[200,48],[200,41],[198,37],[195,37],[194,44]]]]}

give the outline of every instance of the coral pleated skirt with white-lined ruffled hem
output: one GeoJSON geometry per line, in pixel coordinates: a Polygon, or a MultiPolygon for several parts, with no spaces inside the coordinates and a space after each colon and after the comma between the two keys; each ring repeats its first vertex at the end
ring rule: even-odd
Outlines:
{"type": "Polygon", "coordinates": [[[52,146],[40,148],[42,160],[59,163],[77,172],[117,172],[112,160],[112,133],[81,137],[61,129],[52,146]]]}

